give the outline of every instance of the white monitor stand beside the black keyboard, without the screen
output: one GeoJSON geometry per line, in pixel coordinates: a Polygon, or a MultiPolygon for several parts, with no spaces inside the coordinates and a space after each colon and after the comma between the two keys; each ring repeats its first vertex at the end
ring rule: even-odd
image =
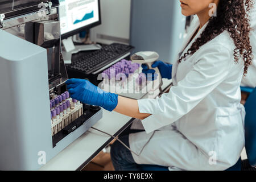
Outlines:
{"type": "Polygon", "coordinates": [[[75,46],[72,37],[62,40],[64,50],[62,51],[65,64],[71,64],[72,55],[80,51],[93,51],[101,49],[99,44],[88,44],[75,46]]]}

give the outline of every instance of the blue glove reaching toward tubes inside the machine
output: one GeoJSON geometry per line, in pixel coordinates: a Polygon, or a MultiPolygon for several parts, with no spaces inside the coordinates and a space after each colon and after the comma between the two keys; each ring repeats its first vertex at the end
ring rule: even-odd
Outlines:
{"type": "Polygon", "coordinates": [[[85,104],[101,106],[109,111],[113,111],[117,106],[117,94],[105,92],[88,80],[71,78],[66,84],[71,97],[85,104]]]}

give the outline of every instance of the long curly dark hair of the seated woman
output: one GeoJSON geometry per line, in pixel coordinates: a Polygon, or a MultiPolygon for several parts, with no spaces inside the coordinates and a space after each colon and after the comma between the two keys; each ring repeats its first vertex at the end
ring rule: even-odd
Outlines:
{"type": "Polygon", "coordinates": [[[201,46],[226,30],[236,46],[236,49],[234,49],[234,61],[238,63],[238,60],[243,56],[245,65],[243,75],[246,76],[249,65],[253,60],[249,37],[251,31],[249,12],[253,5],[254,2],[252,0],[220,0],[217,7],[217,16],[212,16],[209,19],[209,23],[201,36],[180,57],[179,63],[187,55],[193,55],[201,46]]]}

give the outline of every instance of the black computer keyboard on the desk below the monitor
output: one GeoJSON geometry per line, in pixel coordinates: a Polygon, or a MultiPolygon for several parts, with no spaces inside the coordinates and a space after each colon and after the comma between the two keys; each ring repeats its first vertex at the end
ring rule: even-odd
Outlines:
{"type": "Polygon", "coordinates": [[[72,60],[72,63],[67,64],[66,67],[89,75],[90,73],[105,67],[105,65],[112,63],[114,60],[119,59],[133,48],[133,46],[113,43],[102,47],[100,50],[88,53],[80,59],[75,61],[72,60]]]}

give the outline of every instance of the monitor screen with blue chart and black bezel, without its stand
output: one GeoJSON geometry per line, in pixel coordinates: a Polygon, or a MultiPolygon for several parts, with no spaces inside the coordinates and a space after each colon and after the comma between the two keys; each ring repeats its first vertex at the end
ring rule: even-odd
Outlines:
{"type": "Polygon", "coordinates": [[[61,38],[101,24],[100,0],[59,0],[61,38]]]}

